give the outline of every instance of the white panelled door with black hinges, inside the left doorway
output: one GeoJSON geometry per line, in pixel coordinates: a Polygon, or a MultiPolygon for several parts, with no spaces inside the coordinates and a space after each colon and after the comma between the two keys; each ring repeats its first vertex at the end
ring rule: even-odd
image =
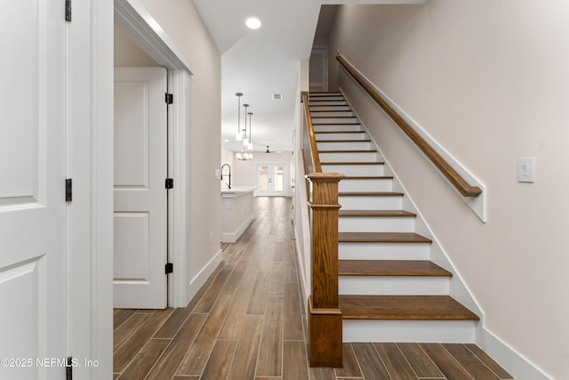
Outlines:
{"type": "Polygon", "coordinates": [[[166,69],[115,69],[116,308],[164,309],[166,69]]]}

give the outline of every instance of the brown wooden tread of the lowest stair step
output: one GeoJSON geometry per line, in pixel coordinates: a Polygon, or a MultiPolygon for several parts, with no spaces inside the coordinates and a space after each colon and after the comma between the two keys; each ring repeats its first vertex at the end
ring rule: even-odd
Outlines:
{"type": "Polygon", "coordinates": [[[448,295],[340,295],[343,319],[479,320],[448,295]]]}

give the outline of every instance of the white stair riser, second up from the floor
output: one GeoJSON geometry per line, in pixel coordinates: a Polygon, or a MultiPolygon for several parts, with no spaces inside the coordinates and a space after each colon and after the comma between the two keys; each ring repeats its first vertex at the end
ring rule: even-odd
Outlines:
{"type": "Polygon", "coordinates": [[[340,276],[340,295],[448,295],[448,277],[340,276]]]}

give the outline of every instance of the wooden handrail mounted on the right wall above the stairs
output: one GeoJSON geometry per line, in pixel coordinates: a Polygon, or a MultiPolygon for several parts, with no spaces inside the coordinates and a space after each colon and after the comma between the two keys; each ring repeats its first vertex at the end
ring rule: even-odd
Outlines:
{"type": "Polygon", "coordinates": [[[400,117],[397,112],[389,106],[388,102],[383,100],[379,93],[375,92],[372,86],[367,83],[365,78],[349,63],[349,61],[346,61],[346,59],[340,54],[336,56],[336,60],[340,61],[341,66],[346,69],[356,82],[370,94],[373,100],[376,101],[385,112],[387,112],[389,117],[399,125],[403,132],[409,136],[425,156],[427,156],[427,158],[437,166],[438,170],[445,175],[446,179],[453,183],[454,187],[459,190],[463,197],[477,197],[482,194],[482,190],[478,186],[470,185],[469,182],[462,178],[461,174],[458,174],[456,170],[446,162],[445,158],[442,158],[427,141],[416,133],[411,125],[408,125],[403,117],[400,117]]]}

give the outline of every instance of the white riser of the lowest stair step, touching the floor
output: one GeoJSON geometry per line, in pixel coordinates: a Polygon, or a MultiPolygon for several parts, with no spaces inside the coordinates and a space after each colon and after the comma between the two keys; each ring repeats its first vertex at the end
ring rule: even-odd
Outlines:
{"type": "Polygon", "coordinates": [[[475,343],[472,320],[344,319],[344,342],[475,343]]]}

